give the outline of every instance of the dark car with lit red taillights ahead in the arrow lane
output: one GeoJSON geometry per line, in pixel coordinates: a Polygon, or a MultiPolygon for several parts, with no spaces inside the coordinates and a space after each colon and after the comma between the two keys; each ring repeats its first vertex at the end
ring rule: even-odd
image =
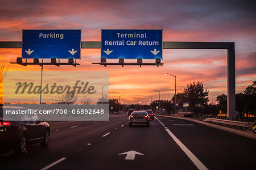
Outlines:
{"type": "Polygon", "coordinates": [[[150,117],[148,116],[147,112],[135,111],[131,113],[129,116],[129,127],[135,124],[146,124],[149,127],[150,117]]]}

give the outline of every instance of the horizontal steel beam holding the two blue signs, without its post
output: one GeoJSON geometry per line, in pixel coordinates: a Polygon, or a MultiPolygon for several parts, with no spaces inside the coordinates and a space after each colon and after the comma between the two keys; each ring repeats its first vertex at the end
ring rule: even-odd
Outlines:
{"type": "MultiPolygon", "coordinates": [[[[164,41],[163,49],[229,49],[234,42],[164,41]]],[[[0,41],[0,48],[22,48],[21,41],[0,41]]],[[[101,41],[82,41],[81,48],[101,48],[101,41]]]]}

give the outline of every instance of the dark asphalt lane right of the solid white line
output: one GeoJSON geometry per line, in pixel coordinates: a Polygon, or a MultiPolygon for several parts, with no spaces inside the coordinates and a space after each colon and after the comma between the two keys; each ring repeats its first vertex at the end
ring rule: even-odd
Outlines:
{"type": "Polygon", "coordinates": [[[209,169],[255,169],[256,141],[196,122],[158,116],[209,169]]]}

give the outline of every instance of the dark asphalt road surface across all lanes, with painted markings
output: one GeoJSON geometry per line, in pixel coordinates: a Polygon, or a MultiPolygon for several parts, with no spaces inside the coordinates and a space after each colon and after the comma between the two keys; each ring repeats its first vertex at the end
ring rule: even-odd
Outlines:
{"type": "Polygon", "coordinates": [[[0,169],[256,169],[254,139],[177,118],[127,122],[126,114],[51,122],[47,148],[1,153],[0,169]]]}

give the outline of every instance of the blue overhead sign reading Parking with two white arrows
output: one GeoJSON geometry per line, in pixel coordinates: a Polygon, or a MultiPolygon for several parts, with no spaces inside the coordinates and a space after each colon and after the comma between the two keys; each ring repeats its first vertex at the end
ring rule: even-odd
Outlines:
{"type": "Polygon", "coordinates": [[[81,57],[81,29],[22,30],[22,58],[81,57]]]}

